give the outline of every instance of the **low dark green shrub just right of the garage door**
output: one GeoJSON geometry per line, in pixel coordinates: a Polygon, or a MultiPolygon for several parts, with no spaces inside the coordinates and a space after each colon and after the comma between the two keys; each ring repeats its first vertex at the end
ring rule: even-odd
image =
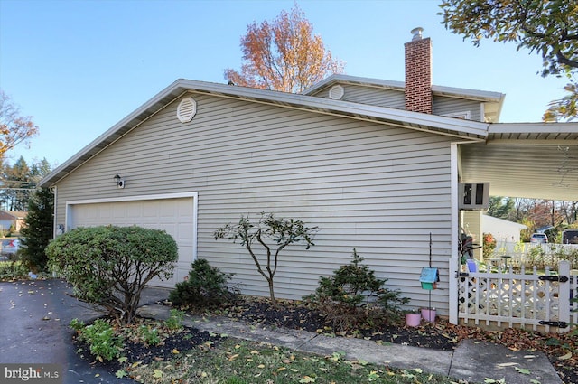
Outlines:
{"type": "Polygon", "coordinates": [[[211,267],[204,258],[191,264],[187,279],[177,283],[169,300],[175,305],[215,306],[227,302],[234,295],[228,290],[232,274],[226,274],[218,267],[211,267]]]}

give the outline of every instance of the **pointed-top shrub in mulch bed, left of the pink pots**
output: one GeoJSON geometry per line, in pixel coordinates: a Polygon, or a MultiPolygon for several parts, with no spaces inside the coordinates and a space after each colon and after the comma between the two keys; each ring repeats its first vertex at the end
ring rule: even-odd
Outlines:
{"type": "Polygon", "coordinates": [[[333,271],[332,276],[321,276],[315,293],[303,297],[331,320],[336,330],[397,319],[399,305],[409,301],[400,297],[399,291],[387,289],[387,279],[375,276],[375,271],[362,265],[362,261],[353,248],[349,265],[333,271]]]}

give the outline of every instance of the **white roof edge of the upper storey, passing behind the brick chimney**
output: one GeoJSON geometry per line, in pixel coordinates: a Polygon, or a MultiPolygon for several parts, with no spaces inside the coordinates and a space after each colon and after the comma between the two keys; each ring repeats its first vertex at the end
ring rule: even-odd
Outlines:
{"type": "MultiPolygon", "coordinates": [[[[336,84],[351,84],[351,85],[359,85],[362,87],[391,89],[400,92],[403,92],[406,89],[406,83],[404,81],[371,79],[358,76],[335,74],[314,84],[312,87],[303,90],[302,94],[313,95],[315,93],[321,92],[323,89],[331,88],[336,84]]],[[[483,102],[485,103],[484,107],[485,118],[487,121],[492,123],[497,123],[499,121],[499,115],[501,113],[501,109],[504,104],[504,98],[506,98],[506,95],[499,92],[489,92],[486,90],[478,90],[478,89],[443,87],[439,85],[432,86],[432,93],[433,96],[444,96],[447,98],[466,98],[470,100],[483,102]]]]}

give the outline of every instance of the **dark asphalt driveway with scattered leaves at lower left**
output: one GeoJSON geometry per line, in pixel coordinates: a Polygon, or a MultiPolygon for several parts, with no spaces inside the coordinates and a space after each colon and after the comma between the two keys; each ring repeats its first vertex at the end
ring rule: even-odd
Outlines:
{"type": "Polygon", "coordinates": [[[86,323],[101,313],[71,294],[60,279],[0,283],[0,363],[58,364],[64,384],[117,383],[76,353],[70,320],[86,323]]]}

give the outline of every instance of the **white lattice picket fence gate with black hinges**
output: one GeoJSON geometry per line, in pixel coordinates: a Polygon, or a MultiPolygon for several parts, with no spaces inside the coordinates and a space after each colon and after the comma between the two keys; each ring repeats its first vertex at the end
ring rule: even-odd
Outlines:
{"type": "Polygon", "coordinates": [[[515,273],[511,265],[472,269],[478,270],[461,273],[458,279],[462,323],[545,332],[576,327],[578,313],[573,310],[578,303],[571,299],[578,297],[578,276],[570,276],[568,261],[560,261],[557,271],[546,268],[542,273],[536,267],[527,273],[523,266],[515,273]]]}

